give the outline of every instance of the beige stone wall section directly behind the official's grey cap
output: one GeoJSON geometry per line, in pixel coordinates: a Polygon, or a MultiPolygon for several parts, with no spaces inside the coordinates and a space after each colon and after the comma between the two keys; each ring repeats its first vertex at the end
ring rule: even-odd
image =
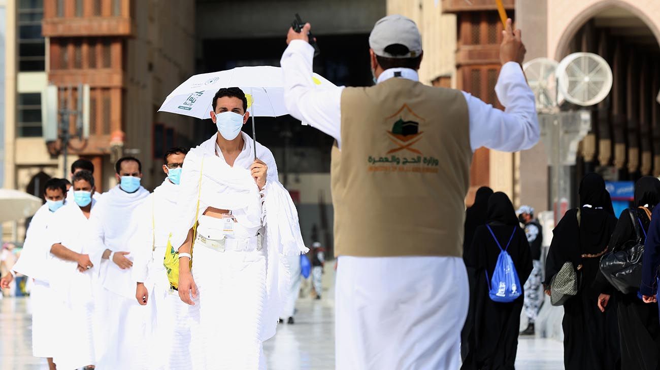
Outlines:
{"type": "Polygon", "coordinates": [[[388,0],[387,14],[411,18],[422,34],[420,81],[430,84],[439,76],[451,76],[451,86],[456,86],[456,16],[442,14],[442,6],[440,2],[436,5],[436,0],[388,0]]]}

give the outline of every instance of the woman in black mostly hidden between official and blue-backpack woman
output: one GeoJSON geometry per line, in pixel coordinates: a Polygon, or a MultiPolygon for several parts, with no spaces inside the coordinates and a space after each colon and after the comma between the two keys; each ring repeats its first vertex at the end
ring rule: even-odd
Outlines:
{"type": "MultiPolygon", "coordinates": [[[[475,194],[475,203],[465,211],[465,227],[463,228],[463,261],[465,256],[469,255],[472,238],[475,235],[477,226],[486,223],[488,216],[488,198],[492,196],[493,191],[488,186],[482,186],[475,194]]],[[[472,330],[472,323],[475,316],[475,271],[471,267],[467,267],[467,278],[470,286],[470,305],[467,310],[467,319],[463,331],[461,331],[461,358],[465,359],[469,349],[475,345],[475,338],[470,336],[472,330]]]]}

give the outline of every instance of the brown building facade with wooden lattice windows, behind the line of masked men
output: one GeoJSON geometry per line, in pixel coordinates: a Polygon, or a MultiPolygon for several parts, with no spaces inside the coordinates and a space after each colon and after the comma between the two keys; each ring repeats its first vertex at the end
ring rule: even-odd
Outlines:
{"type": "MultiPolygon", "coordinates": [[[[114,162],[133,155],[143,185],[164,178],[162,155],[195,142],[192,120],[157,113],[168,93],[195,71],[195,2],[168,0],[7,0],[5,39],[5,188],[36,196],[48,178],[68,177],[60,140],[46,142],[41,93],[48,85],[90,86],[90,132],[68,147],[68,165],[90,159],[98,190],[116,184],[114,162]]],[[[71,133],[74,120],[71,119],[71,133]]],[[[16,230],[16,228],[13,228],[16,230]]],[[[7,228],[5,228],[7,230],[7,228]]],[[[20,239],[18,232],[13,238],[20,239]]]]}

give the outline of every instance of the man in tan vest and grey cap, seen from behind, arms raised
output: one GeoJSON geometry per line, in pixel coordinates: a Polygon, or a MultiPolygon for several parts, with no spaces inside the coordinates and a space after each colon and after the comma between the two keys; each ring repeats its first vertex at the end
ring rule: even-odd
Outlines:
{"type": "Polygon", "coordinates": [[[337,140],[336,367],[458,369],[473,151],[518,151],[539,140],[520,31],[508,20],[500,111],[469,93],[420,84],[421,36],[401,15],[376,22],[369,37],[375,86],[315,90],[309,30],[289,30],[281,65],[289,113],[337,140]]]}

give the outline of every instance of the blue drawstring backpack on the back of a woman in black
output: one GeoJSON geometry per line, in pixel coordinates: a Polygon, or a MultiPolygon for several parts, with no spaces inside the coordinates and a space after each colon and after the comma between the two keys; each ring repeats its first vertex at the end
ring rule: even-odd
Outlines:
{"type": "Polygon", "coordinates": [[[500,242],[497,240],[493,230],[489,225],[486,225],[490,235],[492,235],[497,246],[500,248],[500,256],[497,259],[495,264],[495,270],[493,271],[493,277],[488,279],[488,271],[486,271],[486,281],[488,282],[488,296],[494,302],[500,303],[509,303],[515,301],[521,294],[520,292],[520,279],[518,278],[518,273],[515,271],[515,266],[513,266],[513,260],[507,249],[509,244],[513,240],[513,235],[515,235],[515,227],[513,228],[513,233],[509,242],[506,244],[506,247],[502,249],[500,242]]]}

